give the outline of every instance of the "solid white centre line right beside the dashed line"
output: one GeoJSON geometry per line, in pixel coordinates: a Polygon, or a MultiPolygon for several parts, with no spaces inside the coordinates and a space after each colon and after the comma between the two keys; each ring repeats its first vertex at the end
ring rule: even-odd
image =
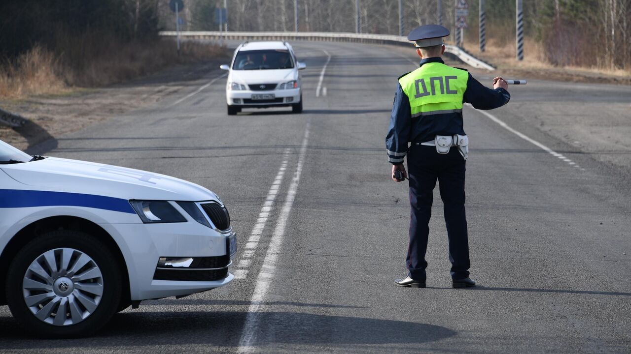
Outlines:
{"type": "Polygon", "coordinates": [[[302,139],[302,146],[300,146],[300,153],[298,154],[298,164],[296,171],[293,173],[292,183],[289,185],[287,196],[285,198],[285,204],[281,209],[278,221],[276,222],[276,229],[269,242],[268,251],[265,254],[263,265],[261,266],[261,273],[256,280],[256,287],[250,300],[250,307],[247,310],[247,317],[245,319],[245,325],[241,338],[239,340],[239,353],[252,353],[254,351],[254,334],[259,323],[259,313],[262,309],[262,303],[266,297],[269,288],[269,282],[276,270],[276,261],[278,260],[278,253],[280,246],[283,243],[283,236],[285,235],[285,227],[289,214],[292,212],[293,200],[296,197],[296,191],[298,190],[298,183],[300,182],[300,174],[302,173],[302,166],[305,161],[305,153],[307,152],[307,143],[309,142],[309,130],[311,126],[311,120],[307,121],[307,127],[305,128],[305,135],[302,139]]]}

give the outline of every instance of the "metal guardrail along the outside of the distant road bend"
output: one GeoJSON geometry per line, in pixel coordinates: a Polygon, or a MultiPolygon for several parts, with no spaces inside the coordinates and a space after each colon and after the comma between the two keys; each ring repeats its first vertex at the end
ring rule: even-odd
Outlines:
{"type": "MultiPolygon", "coordinates": [[[[175,37],[175,31],[160,31],[164,37],[175,37]]],[[[334,42],[360,42],[394,45],[411,45],[406,37],[396,35],[372,35],[364,33],[329,33],[329,32],[220,32],[220,31],[181,31],[180,37],[186,39],[233,39],[233,40],[312,40],[334,42]]],[[[445,52],[455,55],[466,64],[479,69],[494,71],[495,67],[474,57],[456,45],[445,44],[445,52]]]]}

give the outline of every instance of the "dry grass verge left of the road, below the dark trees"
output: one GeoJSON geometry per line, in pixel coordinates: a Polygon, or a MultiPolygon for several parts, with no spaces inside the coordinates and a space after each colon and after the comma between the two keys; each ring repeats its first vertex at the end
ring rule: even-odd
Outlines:
{"type": "Polygon", "coordinates": [[[0,66],[0,97],[60,94],[120,83],[168,65],[225,55],[225,48],[209,43],[183,42],[178,56],[172,40],[119,43],[98,35],[58,38],[55,52],[37,45],[0,66]]]}

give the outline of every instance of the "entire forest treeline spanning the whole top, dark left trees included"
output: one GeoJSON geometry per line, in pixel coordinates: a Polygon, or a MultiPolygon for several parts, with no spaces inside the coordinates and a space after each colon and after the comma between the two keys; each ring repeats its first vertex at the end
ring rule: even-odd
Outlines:
{"type": "MultiPolygon", "coordinates": [[[[0,3],[0,52],[15,58],[35,46],[59,60],[85,66],[109,43],[156,40],[172,30],[169,0],[5,0],[0,3]]],[[[223,0],[183,0],[183,30],[217,30],[223,0]]],[[[404,31],[437,23],[440,0],[403,0],[404,31]]],[[[468,0],[465,46],[478,38],[478,0],[468,0]]],[[[487,38],[514,46],[515,0],[486,0],[487,38]]],[[[527,41],[550,64],[631,70],[631,0],[524,0],[527,41]]],[[[355,0],[227,0],[230,31],[355,31],[355,0]]],[[[442,0],[442,20],[452,28],[454,0],[442,0]]],[[[399,33],[398,0],[359,0],[362,33],[399,33]]]]}

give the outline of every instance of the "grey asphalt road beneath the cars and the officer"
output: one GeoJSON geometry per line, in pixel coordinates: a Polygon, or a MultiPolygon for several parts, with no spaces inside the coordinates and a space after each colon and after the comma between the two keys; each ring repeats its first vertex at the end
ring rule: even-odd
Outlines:
{"type": "MultiPolygon", "coordinates": [[[[155,106],[59,137],[47,153],[215,191],[239,232],[239,279],[143,302],[81,340],[32,339],[4,306],[1,351],[631,352],[628,174],[535,123],[586,102],[604,118],[622,105],[628,114],[631,88],[529,81],[510,88],[509,105],[492,117],[465,107],[471,277],[481,286],[451,288],[436,189],[428,288],[399,288],[409,205],[407,186],[389,178],[384,137],[396,77],[415,69],[413,52],[294,46],[308,66],[302,114],[228,117],[225,78],[208,84],[217,70],[155,106]]],[[[628,158],[620,155],[611,159],[628,158]]]]}

